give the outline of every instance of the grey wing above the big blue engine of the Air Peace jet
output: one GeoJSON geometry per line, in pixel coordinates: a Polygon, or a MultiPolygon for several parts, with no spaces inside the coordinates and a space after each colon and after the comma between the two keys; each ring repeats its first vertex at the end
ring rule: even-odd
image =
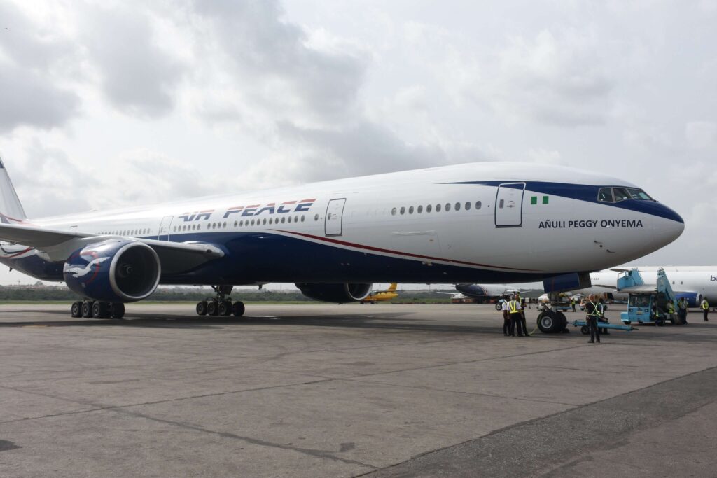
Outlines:
{"type": "Polygon", "coordinates": [[[125,239],[143,242],[155,250],[161,262],[163,273],[176,273],[197,267],[204,262],[224,256],[224,252],[213,244],[204,242],[167,242],[156,239],[140,239],[123,236],[97,236],[75,231],[56,231],[36,226],[0,224],[0,240],[37,249],[50,260],[60,262],[72,252],[87,244],[108,239],[125,239]]]}

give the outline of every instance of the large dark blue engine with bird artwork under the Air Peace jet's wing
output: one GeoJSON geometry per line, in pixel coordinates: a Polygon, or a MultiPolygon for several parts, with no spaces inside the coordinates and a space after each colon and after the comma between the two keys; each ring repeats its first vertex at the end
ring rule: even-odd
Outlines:
{"type": "Polygon", "coordinates": [[[161,267],[157,253],[147,244],[110,239],[72,254],[62,273],[67,287],[82,297],[135,302],[156,290],[161,267]]]}

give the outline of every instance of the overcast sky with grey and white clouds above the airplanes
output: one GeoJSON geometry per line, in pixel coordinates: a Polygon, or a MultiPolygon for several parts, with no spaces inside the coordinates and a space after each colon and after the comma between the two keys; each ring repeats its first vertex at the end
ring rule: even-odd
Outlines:
{"type": "Polygon", "coordinates": [[[0,156],[30,217],[562,164],[685,218],[638,263],[717,264],[715,25],[716,0],[0,0],[0,156]]]}

